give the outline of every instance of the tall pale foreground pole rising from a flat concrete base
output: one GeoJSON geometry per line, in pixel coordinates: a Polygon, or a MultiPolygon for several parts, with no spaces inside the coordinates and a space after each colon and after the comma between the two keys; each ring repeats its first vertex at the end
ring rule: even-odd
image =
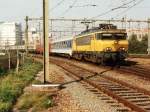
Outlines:
{"type": "Polygon", "coordinates": [[[43,36],[44,36],[44,83],[49,80],[49,19],[48,0],[43,0],[43,36]]]}

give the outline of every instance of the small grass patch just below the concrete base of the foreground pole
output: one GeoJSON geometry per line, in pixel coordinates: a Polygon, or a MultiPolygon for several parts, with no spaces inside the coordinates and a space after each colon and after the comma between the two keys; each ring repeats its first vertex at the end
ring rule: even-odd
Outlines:
{"type": "Polygon", "coordinates": [[[41,112],[53,105],[52,96],[48,93],[26,93],[17,103],[18,110],[21,112],[27,112],[31,108],[32,112],[41,112]]]}

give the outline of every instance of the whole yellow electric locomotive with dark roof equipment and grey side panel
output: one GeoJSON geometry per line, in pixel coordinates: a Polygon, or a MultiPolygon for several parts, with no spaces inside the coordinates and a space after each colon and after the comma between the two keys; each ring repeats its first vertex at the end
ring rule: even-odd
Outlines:
{"type": "Polygon", "coordinates": [[[126,30],[112,24],[84,32],[73,40],[73,57],[96,63],[120,62],[127,57],[126,30]]]}

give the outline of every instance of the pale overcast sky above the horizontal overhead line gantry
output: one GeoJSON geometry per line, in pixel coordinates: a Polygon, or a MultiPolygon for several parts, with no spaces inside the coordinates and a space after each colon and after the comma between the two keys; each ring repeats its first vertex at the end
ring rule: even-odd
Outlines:
{"type": "MultiPolygon", "coordinates": [[[[49,11],[51,11],[51,9],[54,8],[60,1],[62,0],[49,0],[49,11]]],[[[128,1],[132,0],[64,0],[61,5],[55,7],[49,14],[52,18],[91,18],[105,13],[128,1]],[[65,13],[65,11],[73,3],[74,7],[70,8],[65,13]],[[97,6],[91,7],[89,4],[97,6]]],[[[129,6],[134,4],[135,3],[132,3],[129,6]]],[[[97,19],[122,18],[123,16],[133,19],[147,19],[150,17],[150,0],[144,0],[128,12],[122,13],[122,11],[126,10],[127,7],[112,11],[106,15],[98,17],[97,19]]],[[[27,15],[29,17],[41,17],[42,0],[0,0],[0,21],[23,22],[27,15]]]]}

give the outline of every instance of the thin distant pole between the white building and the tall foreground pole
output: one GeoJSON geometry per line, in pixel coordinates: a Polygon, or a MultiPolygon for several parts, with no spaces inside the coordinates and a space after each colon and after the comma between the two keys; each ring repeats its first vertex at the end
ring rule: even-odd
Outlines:
{"type": "Polygon", "coordinates": [[[29,22],[29,17],[26,16],[25,18],[26,21],[26,29],[25,29],[25,47],[26,47],[26,55],[28,55],[28,30],[29,30],[29,26],[28,26],[28,22],[29,22]]]}

